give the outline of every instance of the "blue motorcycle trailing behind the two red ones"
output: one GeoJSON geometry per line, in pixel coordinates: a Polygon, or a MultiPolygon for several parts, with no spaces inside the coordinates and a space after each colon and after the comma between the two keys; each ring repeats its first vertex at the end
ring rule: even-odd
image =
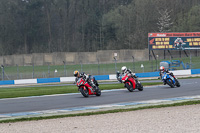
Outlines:
{"type": "Polygon", "coordinates": [[[164,72],[162,74],[162,81],[164,84],[168,84],[171,88],[174,88],[175,86],[181,86],[177,78],[173,75],[173,73],[168,74],[164,72]]]}

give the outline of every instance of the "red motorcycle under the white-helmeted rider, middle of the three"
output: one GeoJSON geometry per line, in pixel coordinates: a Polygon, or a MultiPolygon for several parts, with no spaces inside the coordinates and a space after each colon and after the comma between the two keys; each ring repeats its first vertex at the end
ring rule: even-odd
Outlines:
{"type": "Polygon", "coordinates": [[[125,74],[122,76],[121,81],[130,92],[133,92],[135,89],[143,91],[143,86],[136,76],[132,77],[131,74],[125,74]]]}

